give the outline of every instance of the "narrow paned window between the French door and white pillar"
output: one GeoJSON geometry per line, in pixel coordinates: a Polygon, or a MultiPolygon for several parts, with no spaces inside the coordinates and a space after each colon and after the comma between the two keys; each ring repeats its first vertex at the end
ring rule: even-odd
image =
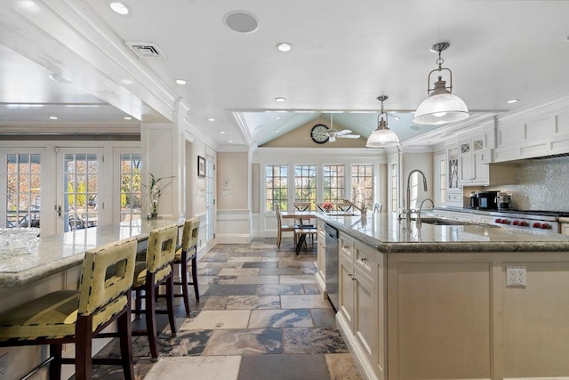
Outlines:
{"type": "Polygon", "coordinates": [[[140,219],[141,157],[140,154],[121,154],[121,222],[140,219]]]}

